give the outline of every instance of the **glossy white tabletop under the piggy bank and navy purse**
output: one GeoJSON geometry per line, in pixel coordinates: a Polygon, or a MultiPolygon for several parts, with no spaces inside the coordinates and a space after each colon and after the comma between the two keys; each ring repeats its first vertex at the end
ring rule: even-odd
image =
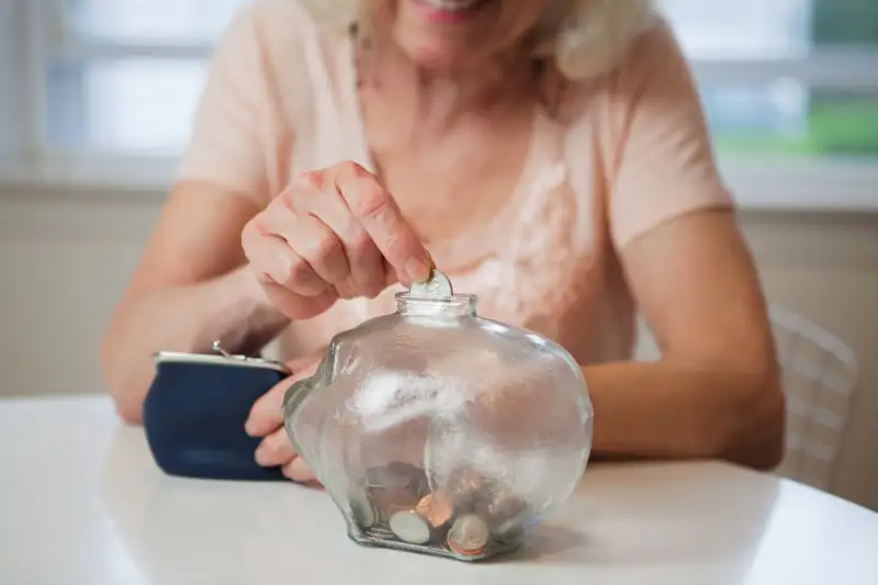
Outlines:
{"type": "Polygon", "coordinates": [[[175,479],[103,397],[0,402],[0,583],[878,584],[878,515],[716,462],[595,464],[521,552],[368,549],[325,493],[175,479]]]}

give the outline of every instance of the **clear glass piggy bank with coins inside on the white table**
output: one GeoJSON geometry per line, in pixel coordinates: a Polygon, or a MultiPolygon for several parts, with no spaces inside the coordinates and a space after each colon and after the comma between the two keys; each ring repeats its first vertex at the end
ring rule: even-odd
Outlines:
{"type": "Polygon", "coordinates": [[[571,495],[592,449],[579,367],[482,318],[441,273],[336,336],[284,397],[296,452],[365,545],[477,561],[571,495]]]}

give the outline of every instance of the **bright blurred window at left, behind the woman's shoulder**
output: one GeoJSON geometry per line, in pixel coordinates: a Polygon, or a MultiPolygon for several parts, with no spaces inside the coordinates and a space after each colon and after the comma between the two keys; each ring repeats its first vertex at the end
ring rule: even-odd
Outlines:
{"type": "Polygon", "coordinates": [[[175,155],[212,44],[246,0],[27,0],[48,151],[175,155]]]}

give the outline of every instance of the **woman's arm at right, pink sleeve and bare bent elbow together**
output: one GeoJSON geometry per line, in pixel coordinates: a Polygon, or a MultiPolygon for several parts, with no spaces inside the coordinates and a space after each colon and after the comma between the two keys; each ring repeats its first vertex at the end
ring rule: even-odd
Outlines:
{"type": "Polygon", "coordinates": [[[785,401],[766,303],[666,27],[631,52],[610,103],[610,235],[662,358],[584,368],[595,453],[774,468],[785,401]]]}

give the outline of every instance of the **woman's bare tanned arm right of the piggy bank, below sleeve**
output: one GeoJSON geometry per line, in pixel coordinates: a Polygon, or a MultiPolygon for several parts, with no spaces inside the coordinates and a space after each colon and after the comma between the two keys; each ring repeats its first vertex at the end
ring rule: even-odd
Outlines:
{"type": "Polygon", "coordinates": [[[776,466],[784,395],[765,303],[733,214],[668,222],[631,243],[622,263],[662,358],[583,369],[596,413],[595,453],[776,466]]]}

